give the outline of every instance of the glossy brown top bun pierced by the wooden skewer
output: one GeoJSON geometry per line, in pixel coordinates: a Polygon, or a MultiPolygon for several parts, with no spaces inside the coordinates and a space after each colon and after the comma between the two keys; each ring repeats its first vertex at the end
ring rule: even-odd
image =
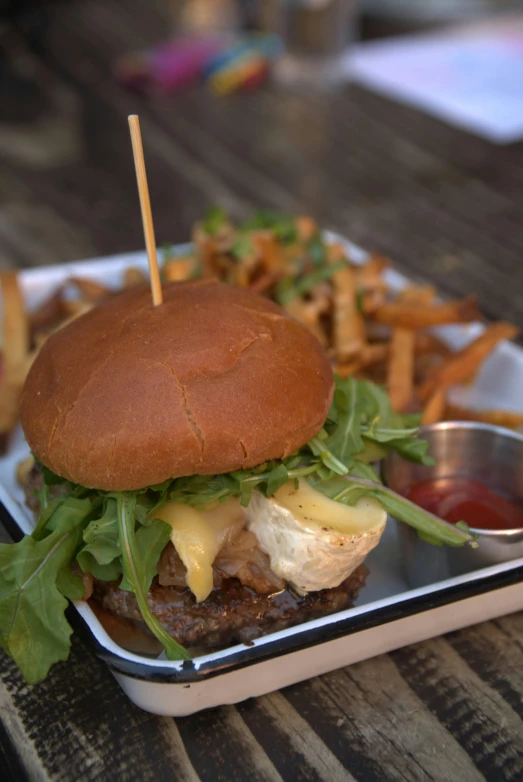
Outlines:
{"type": "Polygon", "coordinates": [[[108,491],[230,472],[295,451],[333,393],[315,337],[272,302],[214,281],[119,294],[53,334],[22,427],[58,475],[108,491]]]}

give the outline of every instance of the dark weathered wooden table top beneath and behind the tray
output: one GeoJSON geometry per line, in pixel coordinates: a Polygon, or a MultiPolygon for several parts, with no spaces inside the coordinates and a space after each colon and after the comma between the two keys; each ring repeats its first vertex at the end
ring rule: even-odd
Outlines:
{"type": "MultiPolygon", "coordinates": [[[[133,96],[110,65],[166,35],[156,6],[167,5],[57,4],[41,47],[24,34],[0,42],[1,268],[142,246],[126,122],[138,112],[159,243],[186,240],[215,203],[236,217],[310,213],[523,326],[522,144],[489,144],[356,87],[133,96]]],[[[0,658],[0,777],[520,780],[522,653],[514,614],[174,720],[135,708],[75,638],[36,687],[0,658]]]]}

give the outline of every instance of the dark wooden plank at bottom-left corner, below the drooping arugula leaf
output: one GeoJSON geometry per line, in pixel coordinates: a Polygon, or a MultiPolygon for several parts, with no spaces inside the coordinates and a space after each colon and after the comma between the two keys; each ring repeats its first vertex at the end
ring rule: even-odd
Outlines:
{"type": "Polygon", "coordinates": [[[0,653],[0,706],[29,779],[53,782],[198,779],[176,726],[136,708],[76,635],[69,661],[41,684],[25,684],[0,653]]]}

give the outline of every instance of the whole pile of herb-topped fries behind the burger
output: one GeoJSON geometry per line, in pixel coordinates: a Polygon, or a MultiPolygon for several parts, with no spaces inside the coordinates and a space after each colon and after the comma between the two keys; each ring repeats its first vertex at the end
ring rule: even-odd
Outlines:
{"type": "MultiPolygon", "coordinates": [[[[468,410],[448,402],[449,389],[473,381],[483,361],[518,329],[487,325],[467,347],[452,352],[432,329],[481,320],[474,296],[442,303],[431,286],[412,285],[396,294],[384,272],[388,259],[371,255],[358,265],[339,243],[327,243],[309,217],[258,212],[233,225],[213,209],[193,229],[189,253],[164,249],[164,281],[213,277],[278,302],[304,323],[330,356],[335,371],[386,386],[398,412],[421,412],[424,423],[480,420],[509,428],[523,414],[468,410]]],[[[71,278],[37,310],[27,313],[16,274],[0,275],[3,289],[3,359],[0,436],[4,446],[17,421],[21,387],[49,334],[115,291],[71,278]]],[[[147,284],[140,269],[127,270],[123,285],[147,284]]]]}

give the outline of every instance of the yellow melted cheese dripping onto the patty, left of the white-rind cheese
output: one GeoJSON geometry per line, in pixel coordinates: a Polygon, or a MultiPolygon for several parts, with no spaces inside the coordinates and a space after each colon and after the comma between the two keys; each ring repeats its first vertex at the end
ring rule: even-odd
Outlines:
{"type": "Polygon", "coordinates": [[[233,524],[244,525],[245,512],[239,500],[228,499],[207,511],[172,502],[154,516],[171,526],[172,544],[187,568],[187,586],[200,603],[213,588],[212,565],[220,550],[221,533],[233,524]]]}

